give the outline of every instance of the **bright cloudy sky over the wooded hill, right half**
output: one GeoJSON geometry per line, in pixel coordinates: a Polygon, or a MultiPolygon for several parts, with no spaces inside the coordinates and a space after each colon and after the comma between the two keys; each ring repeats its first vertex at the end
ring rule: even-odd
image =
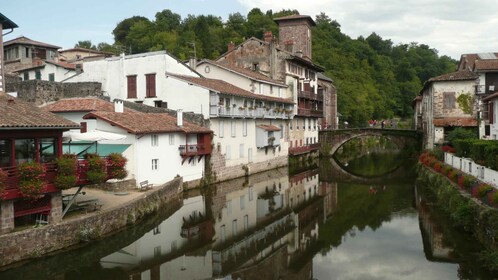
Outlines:
{"type": "Polygon", "coordinates": [[[296,9],[315,17],[324,12],[352,38],[376,32],[395,44],[427,44],[458,59],[464,53],[498,51],[493,36],[497,19],[494,0],[239,0],[248,11],[296,9]]]}

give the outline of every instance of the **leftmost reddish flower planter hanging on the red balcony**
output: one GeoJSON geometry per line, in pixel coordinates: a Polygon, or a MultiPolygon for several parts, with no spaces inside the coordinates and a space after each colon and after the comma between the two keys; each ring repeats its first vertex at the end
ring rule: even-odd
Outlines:
{"type": "Polygon", "coordinates": [[[25,162],[17,167],[19,191],[31,200],[38,199],[45,190],[45,170],[38,162],[25,162]]]}

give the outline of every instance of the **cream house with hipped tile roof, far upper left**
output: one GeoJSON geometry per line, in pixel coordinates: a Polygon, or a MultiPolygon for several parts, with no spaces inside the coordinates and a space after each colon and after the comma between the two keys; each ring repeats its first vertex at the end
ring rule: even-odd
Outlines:
{"type": "Polygon", "coordinates": [[[36,66],[40,60],[56,61],[59,46],[39,42],[21,36],[3,43],[6,73],[36,66]]]}

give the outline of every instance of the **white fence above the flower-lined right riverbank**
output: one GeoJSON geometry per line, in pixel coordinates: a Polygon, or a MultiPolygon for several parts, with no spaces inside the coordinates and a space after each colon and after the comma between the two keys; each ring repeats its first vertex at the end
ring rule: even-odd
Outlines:
{"type": "Polygon", "coordinates": [[[498,189],[498,171],[479,165],[470,158],[460,158],[450,153],[444,153],[444,162],[498,189]]]}

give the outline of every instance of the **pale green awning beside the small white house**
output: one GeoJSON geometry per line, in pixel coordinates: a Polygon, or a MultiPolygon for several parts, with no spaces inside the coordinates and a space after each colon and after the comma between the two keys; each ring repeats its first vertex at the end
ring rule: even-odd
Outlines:
{"type": "Polygon", "coordinates": [[[112,153],[122,154],[128,149],[129,144],[97,144],[97,142],[71,142],[63,143],[62,152],[64,154],[75,154],[83,157],[88,153],[97,153],[102,157],[112,153]]]}

